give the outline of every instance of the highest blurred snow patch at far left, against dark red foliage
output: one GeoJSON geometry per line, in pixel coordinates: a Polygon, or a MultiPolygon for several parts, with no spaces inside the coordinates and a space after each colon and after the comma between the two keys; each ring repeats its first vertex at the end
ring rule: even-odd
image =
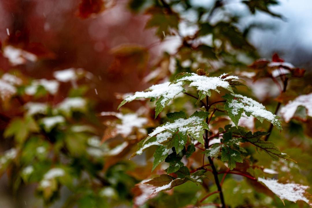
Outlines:
{"type": "Polygon", "coordinates": [[[36,62],[38,59],[35,54],[13,46],[5,46],[3,49],[3,56],[9,59],[13,66],[26,64],[27,60],[36,62]]]}

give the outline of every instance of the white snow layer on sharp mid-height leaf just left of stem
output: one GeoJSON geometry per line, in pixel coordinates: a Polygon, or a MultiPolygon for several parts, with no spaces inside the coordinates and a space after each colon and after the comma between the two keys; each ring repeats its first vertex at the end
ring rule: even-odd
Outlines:
{"type": "Polygon", "coordinates": [[[163,131],[171,130],[175,131],[175,129],[178,129],[181,133],[191,133],[195,135],[196,137],[199,137],[199,132],[202,130],[202,126],[199,125],[202,123],[202,119],[198,116],[192,116],[188,119],[177,119],[173,123],[165,123],[162,126],[158,126],[154,129],[152,133],[149,134],[149,137],[146,139],[149,139],[151,137],[154,137],[156,134],[161,133],[163,131]],[[188,126],[189,124],[192,124],[192,126],[188,126]]]}

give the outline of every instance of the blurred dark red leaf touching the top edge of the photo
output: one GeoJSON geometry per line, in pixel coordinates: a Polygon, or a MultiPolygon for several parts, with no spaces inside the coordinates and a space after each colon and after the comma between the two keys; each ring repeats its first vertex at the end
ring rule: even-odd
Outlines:
{"type": "Polygon", "coordinates": [[[91,14],[98,14],[102,11],[104,2],[102,0],[81,0],[79,4],[78,17],[88,18],[91,14]]]}

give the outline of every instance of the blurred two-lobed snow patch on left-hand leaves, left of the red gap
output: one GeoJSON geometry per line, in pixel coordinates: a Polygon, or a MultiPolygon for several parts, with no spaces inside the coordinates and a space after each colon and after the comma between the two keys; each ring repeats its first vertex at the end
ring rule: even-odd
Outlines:
{"type": "Polygon", "coordinates": [[[56,80],[46,80],[46,79],[33,80],[32,84],[25,88],[25,93],[28,95],[36,94],[38,86],[44,87],[46,91],[54,95],[58,91],[60,83],[56,80]]]}

